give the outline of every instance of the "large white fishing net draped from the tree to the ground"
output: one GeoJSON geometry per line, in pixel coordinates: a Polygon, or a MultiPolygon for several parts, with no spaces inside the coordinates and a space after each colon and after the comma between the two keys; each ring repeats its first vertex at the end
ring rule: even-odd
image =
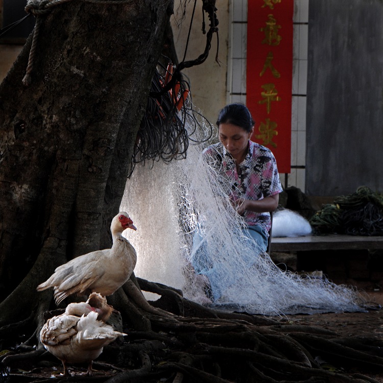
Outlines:
{"type": "MultiPolygon", "coordinates": [[[[193,113],[185,117],[193,140],[204,141],[210,128],[204,119],[197,130],[193,113]]],[[[189,145],[182,160],[137,164],[128,179],[121,209],[137,226],[124,233],[137,251],[136,276],[221,310],[264,315],[363,310],[365,299],[354,288],[282,271],[244,235],[245,223],[228,198],[231,185],[201,156],[206,145],[189,145]],[[192,267],[196,257],[204,262],[204,276],[192,267]],[[214,292],[210,303],[206,277],[214,292]]]]}

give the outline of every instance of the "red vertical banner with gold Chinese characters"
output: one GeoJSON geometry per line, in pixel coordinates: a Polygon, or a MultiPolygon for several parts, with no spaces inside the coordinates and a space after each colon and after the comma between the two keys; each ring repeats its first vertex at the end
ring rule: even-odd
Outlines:
{"type": "Polygon", "coordinates": [[[294,0],[249,0],[246,104],[252,140],[271,149],[279,173],[291,171],[294,0]]]}

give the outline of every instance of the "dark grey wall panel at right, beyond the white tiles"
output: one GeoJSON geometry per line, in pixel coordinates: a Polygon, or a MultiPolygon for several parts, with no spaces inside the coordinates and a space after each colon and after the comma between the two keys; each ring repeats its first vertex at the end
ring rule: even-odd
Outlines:
{"type": "Polygon", "coordinates": [[[306,193],[383,192],[383,3],[310,0],[306,193]]]}

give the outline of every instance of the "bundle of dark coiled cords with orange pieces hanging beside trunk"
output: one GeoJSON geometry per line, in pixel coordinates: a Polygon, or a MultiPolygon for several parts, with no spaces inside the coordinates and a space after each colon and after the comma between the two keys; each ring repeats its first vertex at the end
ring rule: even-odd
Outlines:
{"type": "Polygon", "coordinates": [[[153,165],[155,161],[171,162],[173,159],[186,158],[189,141],[200,143],[208,141],[213,135],[213,126],[205,121],[202,114],[195,109],[189,84],[179,77],[176,83],[169,68],[158,68],[152,79],[145,114],[137,133],[136,143],[130,164],[130,175],[137,163],[146,161],[153,165]],[[164,70],[164,76],[159,72],[164,70]],[[167,84],[173,83],[169,91],[163,92],[167,84]],[[188,129],[185,127],[186,119],[188,129]],[[205,125],[203,128],[202,125],[205,125]],[[196,135],[196,131],[204,134],[196,135]],[[198,136],[196,140],[193,137],[198,136]]]}

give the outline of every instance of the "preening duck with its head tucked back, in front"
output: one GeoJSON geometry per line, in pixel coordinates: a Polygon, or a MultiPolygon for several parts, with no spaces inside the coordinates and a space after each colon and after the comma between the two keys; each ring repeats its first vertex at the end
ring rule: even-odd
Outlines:
{"type": "Polygon", "coordinates": [[[86,375],[91,376],[93,360],[102,353],[104,346],[126,335],[98,319],[100,315],[110,316],[111,306],[99,294],[91,296],[87,302],[70,303],[64,314],[48,319],[41,328],[40,341],[62,362],[64,376],[70,376],[68,363],[88,363],[86,375]],[[89,301],[98,301],[99,307],[92,307],[89,301]]]}

